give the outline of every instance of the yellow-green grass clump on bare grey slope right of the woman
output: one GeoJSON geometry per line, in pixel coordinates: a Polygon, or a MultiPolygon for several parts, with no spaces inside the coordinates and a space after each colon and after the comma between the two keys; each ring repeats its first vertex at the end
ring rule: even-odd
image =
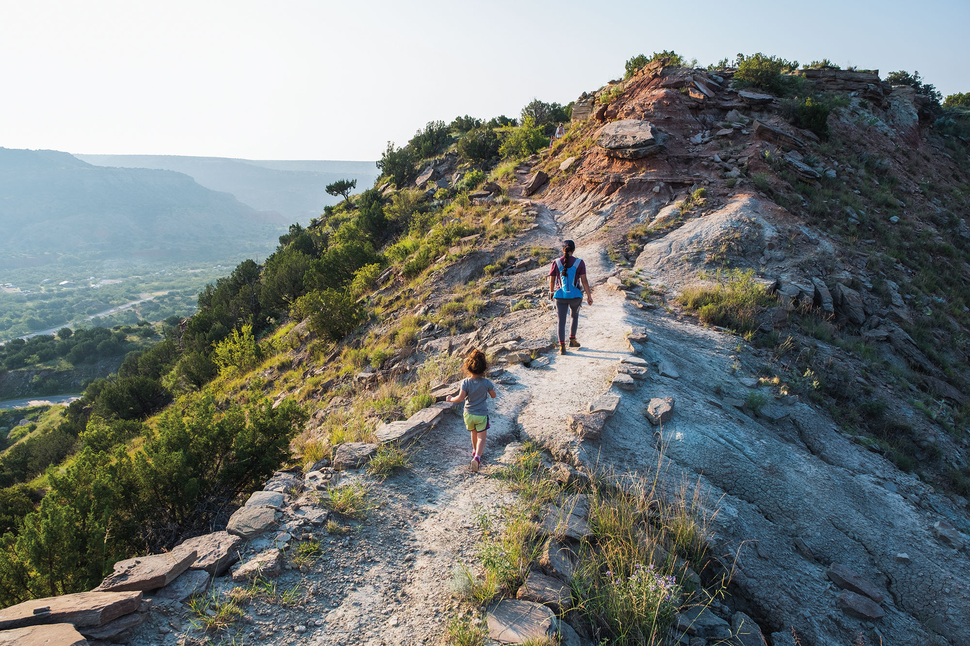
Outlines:
{"type": "Polygon", "coordinates": [[[754,334],[758,329],[759,310],[774,305],[776,298],[755,280],[754,270],[718,270],[712,278],[713,285],[686,288],[677,302],[695,310],[705,325],[726,327],[743,335],[754,334]]]}

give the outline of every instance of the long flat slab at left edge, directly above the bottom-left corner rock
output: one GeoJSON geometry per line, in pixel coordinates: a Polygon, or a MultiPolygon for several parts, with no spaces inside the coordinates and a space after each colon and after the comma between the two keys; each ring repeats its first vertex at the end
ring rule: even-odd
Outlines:
{"type": "Polygon", "coordinates": [[[0,609],[0,630],[41,624],[102,626],[134,612],[141,601],[141,592],[89,592],[34,598],[0,609]]]}

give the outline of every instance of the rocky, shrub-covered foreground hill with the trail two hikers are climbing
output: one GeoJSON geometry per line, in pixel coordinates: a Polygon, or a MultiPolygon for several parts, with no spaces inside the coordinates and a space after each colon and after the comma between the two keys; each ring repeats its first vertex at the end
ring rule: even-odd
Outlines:
{"type": "Polygon", "coordinates": [[[389,145],[72,404],[44,500],[0,496],[0,630],[970,642],[970,115],[901,73],[668,53],[389,145]],[[593,303],[557,354],[565,239],[593,303]],[[480,470],[444,402],[475,348],[480,470]]]}

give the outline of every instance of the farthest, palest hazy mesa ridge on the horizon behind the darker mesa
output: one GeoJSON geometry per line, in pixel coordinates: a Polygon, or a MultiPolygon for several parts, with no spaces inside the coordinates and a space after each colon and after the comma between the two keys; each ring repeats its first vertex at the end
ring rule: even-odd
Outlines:
{"type": "Polygon", "coordinates": [[[377,178],[373,162],[259,161],[180,155],[81,155],[97,166],[154,168],[184,173],[214,191],[232,193],[257,210],[275,210],[291,221],[305,222],[341,198],[328,195],[327,184],[357,179],[370,186],[377,178]]]}

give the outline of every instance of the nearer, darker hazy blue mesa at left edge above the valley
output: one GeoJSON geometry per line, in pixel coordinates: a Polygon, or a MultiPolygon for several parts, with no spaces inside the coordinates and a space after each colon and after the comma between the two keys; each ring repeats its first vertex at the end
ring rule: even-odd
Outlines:
{"type": "Polygon", "coordinates": [[[93,166],[55,150],[0,148],[0,196],[3,268],[62,256],[221,260],[265,248],[289,221],[180,173],[93,166]]]}

